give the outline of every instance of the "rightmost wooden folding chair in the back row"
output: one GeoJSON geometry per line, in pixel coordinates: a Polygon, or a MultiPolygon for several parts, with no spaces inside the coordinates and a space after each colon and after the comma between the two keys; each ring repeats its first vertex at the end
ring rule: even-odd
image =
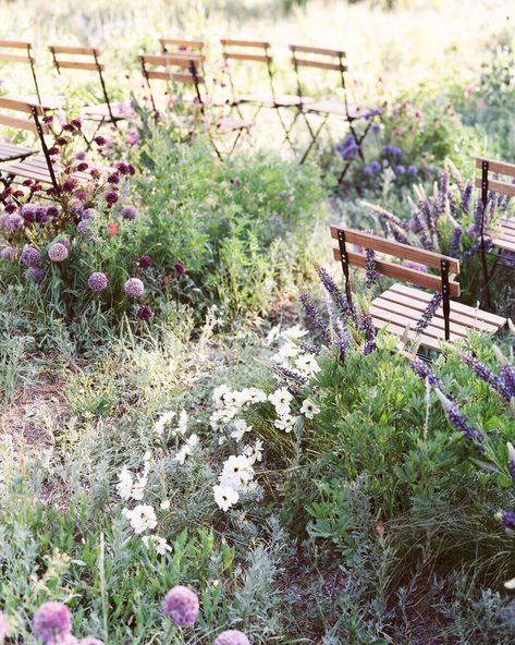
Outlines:
{"type": "MultiPolygon", "coordinates": [[[[292,52],[292,64],[295,70],[295,76],[297,78],[298,95],[304,97],[304,82],[302,70],[318,70],[323,72],[338,72],[339,84],[343,93],[343,100],[341,98],[324,98],[321,100],[310,101],[307,105],[303,101],[302,115],[307,125],[310,143],[306,148],[304,156],[301,159],[303,163],[312,146],[317,142],[320,133],[327,124],[328,119],[333,118],[344,121],[348,124],[351,132],[356,141],[359,148],[359,155],[363,158],[361,143],[368,134],[371,125],[369,119],[364,133],[358,136],[355,129],[354,122],[359,119],[365,119],[370,114],[370,108],[348,101],[347,89],[345,84],[345,73],[347,66],[345,64],[345,52],[340,49],[324,49],[321,47],[306,47],[304,45],[290,45],[290,51],[292,52]],[[316,114],[321,118],[321,123],[317,129],[314,129],[309,122],[308,114],[316,114]]],[[[339,181],[342,181],[348,169],[351,160],[345,165],[342,173],[340,174],[339,181]]]]}

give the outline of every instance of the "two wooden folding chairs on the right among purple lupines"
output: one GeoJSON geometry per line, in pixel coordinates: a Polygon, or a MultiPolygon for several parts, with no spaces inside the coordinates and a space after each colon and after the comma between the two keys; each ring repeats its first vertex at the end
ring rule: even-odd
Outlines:
{"type": "MultiPolygon", "coordinates": [[[[490,193],[515,196],[515,185],[512,183],[515,179],[514,163],[477,158],[476,168],[481,171],[481,174],[476,177],[475,184],[481,191],[483,211],[490,193]],[[510,179],[506,181],[500,175],[510,179]]],[[[459,273],[459,261],[456,258],[338,226],[331,227],[331,236],[338,242],[338,247],[333,248],[333,257],[341,263],[346,297],[350,302],[353,297],[350,267],[368,268],[364,248],[421,265],[419,269],[385,259],[378,259],[375,263],[375,270],[379,275],[415,285],[414,288],[397,282],[372,301],[370,315],[377,329],[388,327],[391,333],[403,340],[415,340],[420,345],[440,351],[442,343],[452,344],[464,341],[470,330],[493,334],[506,322],[502,316],[480,309],[479,306],[470,307],[451,300],[452,296],[459,295],[459,282],[454,279],[459,273]],[[358,250],[352,251],[351,245],[358,246],[358,250]],[[440,276],[421,270],[422,267],[437,269],[440,276]],[[429,325],[418,334],[417,322],[432,297],[431,293],[426,291],[427,289],[442,294],[442,305],[438,307],[429,325]]],[[[492,269],[487,269],[485,273],[485,287],[488,289],[499,264],[514,268],[512,258],[515,257],[515,218],[502,218],[499,227],[492,231],[481,229],[480,239],[482,256],[486,258],[489,253],[495,256],[492,269]],[[491,251],[486,243],[486,238],[491,240],[491,251]],[[505,254],[508,254],[507,258],[505,254]]],[[[488,265],[483,266],[488,267],[488,265]]]]}

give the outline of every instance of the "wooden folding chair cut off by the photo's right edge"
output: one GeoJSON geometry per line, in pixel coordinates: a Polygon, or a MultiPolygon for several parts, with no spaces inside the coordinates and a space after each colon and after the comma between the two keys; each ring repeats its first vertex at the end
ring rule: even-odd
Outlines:
{"type": "Polygon", "coordinates": [[[515,196],[515,184],[502,181],[499,175],[515,179],[515,165],[506,163],[504,161],[494,161],[493,159],[486,159],[482,157],[476,158],[476,168],[481,170],[481,175],[476,177],[476,187],[481,190],[481,266],[485,279],[485,292],[487,294],[487,303],[491,306],[490,281],[493,278],[495,268],[501,264],[508,269],[515,269],[515,260],[506,260],[504,254],[513,254],[515,258],[515,217],[502,218],[499,228],[489,230],[487,206],[490,193],[499,193],[508,197],[515,196]],[[493,179],[490,179],[492,173],[493,179]],[[486,238],[491,239],[492,250],[495,255],[492,269],[489,270],[487,263],[487,255],[489,248],[486,238]]]}

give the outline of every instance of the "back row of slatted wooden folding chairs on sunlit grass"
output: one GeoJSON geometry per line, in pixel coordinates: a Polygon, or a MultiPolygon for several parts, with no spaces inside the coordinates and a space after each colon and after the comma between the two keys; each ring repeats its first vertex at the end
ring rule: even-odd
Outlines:
{"type": "MultiPolygon", "coordinates": [[[[371,124],[370,120],[360,134],[356,132],[354,126],[356,120],[365,119],[370,114],[370,109],[366,106],[352,104],[348,100],[345,77],[347,66],[343,50],[291,45],[291,61],[295,73],[296,93],[284,94],[278,92],[277,88],[275,68],[270,42],[222,39],[223,71],[228,76],[229,87],[229,96],[224,96],[224,93],[219,92],[220,87],[217,90],[212,87],[208,89],[206,86],[205,63],[207,57],[204,41],[184,38],[161,38],[159,46],[160,53],[142,53],[138,57],[152,109],[156,112],[160,111],[160,108],[162,109],[162,106],[158,105],[156,98],[155,81],[163,81],[167,84],[172,82],[175,85],[193,87],[193,96],[186,93],[184,97],[197,102],[203,111],[208,107],[211,111],[217,108],[229,107],[235,113],[234,118],[221,117],[217,120],[219,132],[237,133],[233,148],[237,144],[240,136],[243,133],[248,133],[262,109],[272,109],[275,111],[284,131],[284,142],[294,151],[295,146],[292,139],[292,130],[298,119],[304,121],[309,135],[309,145],[301,155],[301,162],[307,159],[330,119],[338,119],[348,125],[358,149],[360,149],[360,144],[368,133],[371,124]],[[266,85],[253,93],[238,92],[235,80],[235,72],[238,71],[236,65],[260,68],[262,72],[261,81],[266,85]],[[306,92],[307,83],[303,74],[304,71],[309,70],[333,74],[336,82],[333,82],[331,86],[338,86],[341,97],[316,99],[310,96],[306,92]],[[244,114],[242,111],[246,105],[256,107],[256,110],[250,117],[244,114]],[[285,110],[293,110],[293,117],[291,119],[286,118],[285,110]],[[312,122],[310,120],[312,115],[318,121],[312,122]]],[[[98,126],[101,126],[103,123],[111,123],[117,126],[121,120],[126,118],[123,107],[113,102],[110,98],[105,78],[105,63],[102,62],[99,49],[91,47],[50,46],[49,51],[59,74],[63,73],[64,70],[89,71],[97,74],[101,102],[85,106],[83,108],[83,115],[85,118],[96,120],[98,126]]],[[[44,97],[40,92],[36,59],[30,42],[0,40],[0,61],[29,65],[36,96],[24,98],[53,109],[61,106],[62,101],[60,99],[44,97]]],[[[169,86],[167,87],[167,93],[170,95],[169,86]]],[[[340,179],[343,179],[347,167],[348,162],[343,168],[340,179]]]]}

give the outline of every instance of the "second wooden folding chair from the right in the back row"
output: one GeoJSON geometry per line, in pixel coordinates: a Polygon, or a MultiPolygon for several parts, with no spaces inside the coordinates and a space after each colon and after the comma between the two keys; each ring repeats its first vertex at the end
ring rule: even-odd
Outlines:
{"type": "Polygon", "coordinates": [[[243,118],[243,114],[240,110],[240,106],[245,104],[257,106],[257,110],[252,118],[253,123],[257,119],[262,108],[275,110],[285,134],[285,141],[287,141],[292,149],[295,151],[293,143],[290,138],[291,125],[284,121],[281,110],[284,108],[296,108],[299,110],[302,109],[303,105],[308,104],[314,99],[307,96],[302,97],[297,95],[277,93],[273,73],[273,59],[270,53],[270,42],[260,40],[234,40],[229,38],[222,38],[220,42],[222,44],[222,56],[225,62],[225,70],[229,76],[229,84],[231,88],[231,106],[237,110],[241,118],[243,118]],[[231,63],[230,61],[233,62],[231,63]],[[268,86],[268,89],[248,94],[237,93],[232,69],[235,62],[245,64],[259,63],[266,72],[266,85],[268,86]]]}

